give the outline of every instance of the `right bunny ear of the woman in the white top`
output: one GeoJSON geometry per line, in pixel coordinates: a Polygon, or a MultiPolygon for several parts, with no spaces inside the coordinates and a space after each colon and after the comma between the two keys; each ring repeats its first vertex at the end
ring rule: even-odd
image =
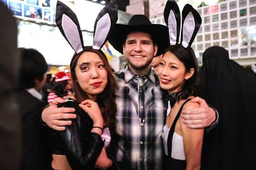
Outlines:
{"type": "Polygon", "coordinates": [[[201,23],[202,19],[199,13],[190,4],[186,4],[182,11],[182,31],[180,38],[182,46],[188,48],[192,45],[201,23]]]}

